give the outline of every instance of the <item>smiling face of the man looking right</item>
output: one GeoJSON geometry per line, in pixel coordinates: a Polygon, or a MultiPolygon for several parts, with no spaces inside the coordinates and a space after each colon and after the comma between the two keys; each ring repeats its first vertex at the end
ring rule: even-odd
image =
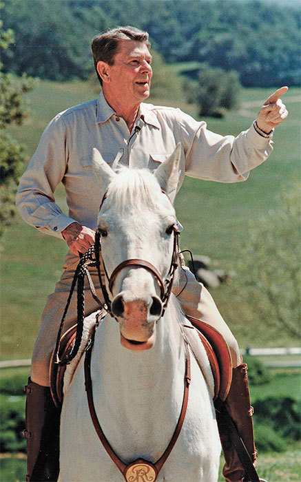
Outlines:
{"type": "Polygon", "coordinates": [[[143,42],[122,41],[114,64],[107,65],[104,88],[125,107],[138,105],[149,96],[152,56],[143,42]]]}

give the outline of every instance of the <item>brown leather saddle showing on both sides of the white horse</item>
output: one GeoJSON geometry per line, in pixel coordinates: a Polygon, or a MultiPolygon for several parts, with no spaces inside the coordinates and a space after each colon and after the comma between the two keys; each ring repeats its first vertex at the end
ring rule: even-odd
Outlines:
{"type": "MultiPolygon", "coordinates": [[[[214,401],[216,399],[225,401],[232,379],[231,355],[228,344],[222,335],[209,324],[194,317],[187,318],[192,326],[185,325],[185,328],[193,328],[196,330],[209,359],[214,377],[214,401]]],[[[75,337],[76,325],[72,326],[72,328],[66,331],[61,337],[59,359],[70,355],[75,337]]],[[[56,364],[55,361],[56,353],[54,350],[50,361],[50,390],[56,408],[61,408],[63,403],[63,378],[66,366],[56,364]]]]}

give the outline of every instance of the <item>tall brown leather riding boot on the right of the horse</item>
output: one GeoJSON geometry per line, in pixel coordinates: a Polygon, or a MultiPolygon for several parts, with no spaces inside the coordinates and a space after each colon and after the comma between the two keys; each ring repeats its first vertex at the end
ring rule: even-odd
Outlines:
{"type": "Polygon", "coordinates": [[[227,482],[256,482],[260,479],[253,470],[257,465],[257,451],[254,444],[253,408],[250,404],[247,365],[240,364],[233,368],[232,373],[229,395],[224,404],[216,404],[218,430],[226,462],[222,474],[227,482]],[[247,448],[249,456],[241,450],[239,438],[247,448]],[[242,463],[249,466],[248,472],[242,463]]]}

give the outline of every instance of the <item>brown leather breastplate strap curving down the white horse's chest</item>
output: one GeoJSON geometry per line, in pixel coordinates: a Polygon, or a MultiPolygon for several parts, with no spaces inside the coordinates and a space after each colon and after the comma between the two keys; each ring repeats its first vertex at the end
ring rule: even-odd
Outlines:
{"type": "MultiPolygon", "coordinates": [[[[107,451],[107,454],[110,455],[112,461],[116,464],[118,469],[125,477],[125,472],[129,467],[129,465],[132,465],[132,463],[126,464],[121,459],[119,459],[119,457],[116,455],[116,453],[110,446],[110,443],[107,441],[105,434],[103,433],[103,430],[98,421],[98,417],[96,415],[96,411],[94,407],[93,393],[92,393],[92,378],[91,378],[91,355],[92,355],[92,347],[94,345],[94,335],[95,335],[95,330],[92,333],[91,342],[90,342],[90,345],[87,347],[86,354],[85,354],[85,390],[87,392],[87,403],[89,406],[90,415],[91,415],[94,428],[96,430],[96,433],[98,434],[98,438],[100,439],[101,443],[103,444],[103,447],[107,451]]],[[[172,449],[174,448],[174,445],[178,439],[178,435],[180,434],[180,430],[183,426],[183,422],[184,422],[186,410],[187,410],[188,398],[189,398],[190,381],[191,381],[190,355],[189,355],[189,348],[187,346],[187,342],[185,342],[185,383],[184,383],[184,395],[183,395],[182,408],[180,411],[180,417],[178,418],[176,429],[174,430],[174,434],[172,436],[171,441],[169,442],[169,445],[167,446],[167,449],[160,457],[160,459],[156,461],[156,463],[154,464],[149,463],[150,465],[154,466],[157,476],[158,476],[158,472],[163,467],[163,464],[165,463],[170,452],[172,452],[172,449]]]]}

